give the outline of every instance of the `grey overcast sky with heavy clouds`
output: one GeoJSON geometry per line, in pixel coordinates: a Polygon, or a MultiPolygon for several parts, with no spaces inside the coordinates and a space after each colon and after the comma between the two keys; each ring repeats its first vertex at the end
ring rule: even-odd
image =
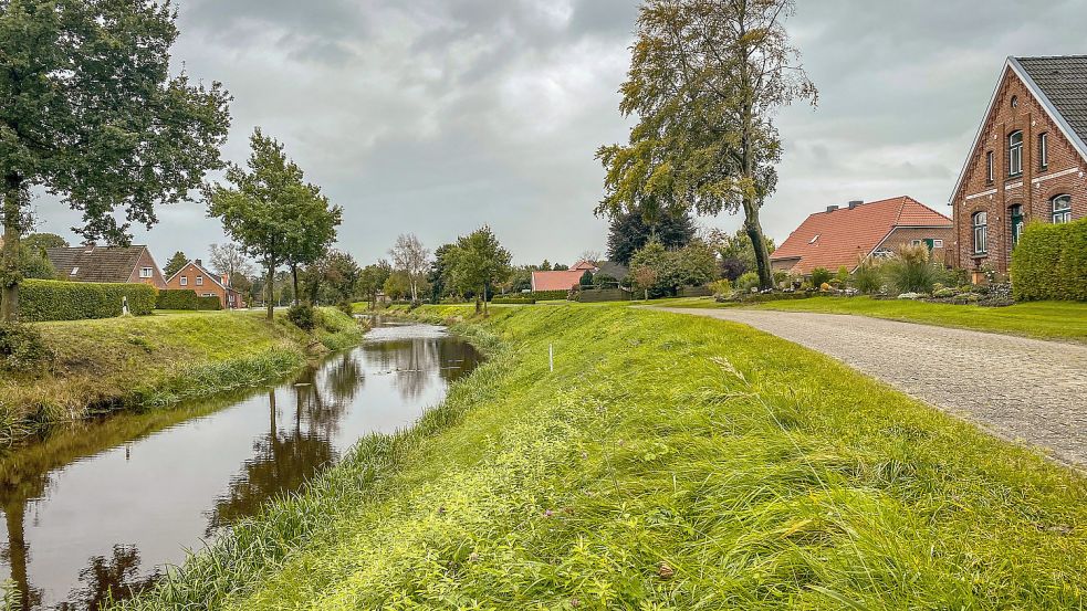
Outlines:
{"type": "MultiPolygon", "coordinates": [[[[625,141],[616,93],[637,0],[177,0],[174,49],[234,96],[223,155],[261,126],[343,206],[363,263],[398,233],[430,247],[490,224],[518,263],[604,250],[593,155],[625,141]]],[[[1081,0],[802,0],[788,21],[818,108],[778,117],[785,157],[763,225],[778,243],[851,199],[947,201],[1006,55],[1075,54],[1081,0]]],[[[79,215],[38,201],[39,231],[79,215]]],[[[160,265],[224,240],[200,203],[138,228],[160,265]]],[[[735,217],[701,223],[734,229],[735,217]]]]}

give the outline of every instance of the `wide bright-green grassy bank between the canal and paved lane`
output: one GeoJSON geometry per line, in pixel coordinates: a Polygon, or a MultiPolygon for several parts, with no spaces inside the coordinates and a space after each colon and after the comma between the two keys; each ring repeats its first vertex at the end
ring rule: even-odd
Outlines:
{"type": "Polygon", "coordinates": [[[491,358],[418,428],[364,440],[125,607],[1084,604],[1081,474],[829,358],[627,307],[458,329],[491,358]]]}

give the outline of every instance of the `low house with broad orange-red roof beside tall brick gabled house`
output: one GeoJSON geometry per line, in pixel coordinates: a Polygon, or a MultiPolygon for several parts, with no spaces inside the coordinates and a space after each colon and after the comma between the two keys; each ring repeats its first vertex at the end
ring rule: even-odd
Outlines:
{"type": "Polygon", "coordinates": [[[770,255],[774,270],[807,275],[816,267],[853,272],[869,256],[890,255],[902,244],[924,244],[932,259],[944,261],[954,240],[951,219],[902,196],[847,208],[827,207],[812,214],[770,255]]]}

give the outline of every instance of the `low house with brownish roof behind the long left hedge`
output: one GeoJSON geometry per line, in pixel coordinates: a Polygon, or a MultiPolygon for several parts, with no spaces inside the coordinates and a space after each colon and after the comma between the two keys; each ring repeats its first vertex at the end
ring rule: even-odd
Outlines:
{"type": "Polygon", "coordinates": [[[67,282],[143,283],[166,288],[166,277],[147,246],[45,249],[56,278],[67,282]]]}

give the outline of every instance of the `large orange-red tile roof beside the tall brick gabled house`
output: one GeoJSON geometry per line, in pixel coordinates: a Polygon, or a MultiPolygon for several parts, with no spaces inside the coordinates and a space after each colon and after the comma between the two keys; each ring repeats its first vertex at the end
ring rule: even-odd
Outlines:
{"type": "Polygon", "coordinates": [[[796,228],[777,247],[771,261],[798,260],[793,272],[807,274],[816,267],[837,270],[857,266],[901,227],[952,227],[951,219],[923,203],[902,196],[856,208],[816,212],[796,228]]]}

